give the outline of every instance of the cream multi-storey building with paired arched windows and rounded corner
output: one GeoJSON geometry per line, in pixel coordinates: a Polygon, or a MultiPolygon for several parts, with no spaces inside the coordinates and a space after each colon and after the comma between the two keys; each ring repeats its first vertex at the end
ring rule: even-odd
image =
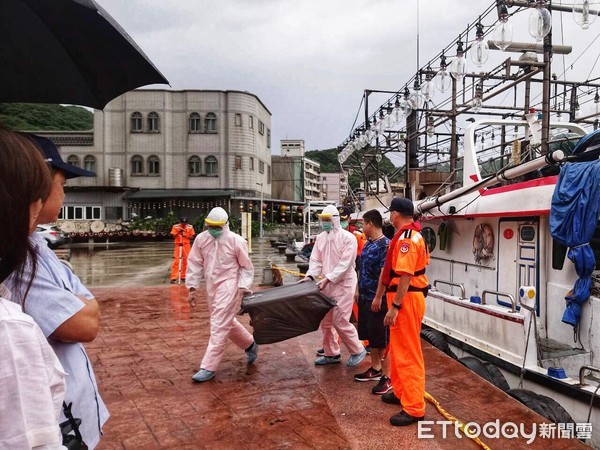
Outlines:
{"type": "Polygon", "coordinates": [[[194,218],[215,205],[258,214],[260,191],[271,197],[271,113],[249,92],[131,91],[94,112],[86,139],[56,141],[97,174],[69,180],[65,219],[194,218]]]}

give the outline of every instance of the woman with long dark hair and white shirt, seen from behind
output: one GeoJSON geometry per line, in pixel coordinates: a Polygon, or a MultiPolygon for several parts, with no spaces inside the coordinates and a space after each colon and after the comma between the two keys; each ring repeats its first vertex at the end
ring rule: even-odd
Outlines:
{"type": "MultiPolygon", "coordinates": [[[[28,237],[51,180],[33,142],[0,129],[0,283],[22,273],[28,257],[36,264],[28,237]]],[[[8,298],[0,284],[0,449],[63,449],[65,373],[39,327],[8,298]]]]}

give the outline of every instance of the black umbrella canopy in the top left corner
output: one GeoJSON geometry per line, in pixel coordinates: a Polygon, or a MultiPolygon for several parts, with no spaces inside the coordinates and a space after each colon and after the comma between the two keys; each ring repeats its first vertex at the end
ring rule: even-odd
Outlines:
{"type": "Polygon", "coordinates": [[[168,81],[94,0],[0,0],[0,102],[102,109],[168,81]]]}

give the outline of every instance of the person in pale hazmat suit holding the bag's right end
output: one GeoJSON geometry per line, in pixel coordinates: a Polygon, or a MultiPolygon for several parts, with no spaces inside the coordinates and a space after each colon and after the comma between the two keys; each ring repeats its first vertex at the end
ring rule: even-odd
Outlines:
{"type": "Polygon", "coordinates": [[[341,361],[340,344],[335,331],[350,351],[346,362],[348,367],[357,366],[367,354],[358,339],[356,328],[350,323],[354,292],[356,291],[356,238],[352,233],[342,229],[340,213],[333,205],[326,206],[319,220],[323,232],[317,236],[315,246],[309,260],[306,277],[300,282],[317,281],[324,295],[337,302],[321,321],[323,332],[324,356],[315,360],[315,364],[323,366],[341,361]],[[334,331],[335,330],[335,331],[334,331]]]}

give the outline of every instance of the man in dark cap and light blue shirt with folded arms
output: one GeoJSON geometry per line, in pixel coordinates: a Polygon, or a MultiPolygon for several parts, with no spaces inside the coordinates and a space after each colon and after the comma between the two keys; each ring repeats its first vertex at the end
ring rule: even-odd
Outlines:
{"type": "MultiPolygon", "coordinates": [[[[52,191],[37,218],[37,223],[56,222],[64,199],[67,179],[95,176],[93,172],[65,163],[56,146],[48,139],[29,135],[35,141],[48,164],[53,178],[52,191]]],[[[82,342],[96,338],[100,325],[100,310],[94,296],[79,278],[56,257],[43,238],[31,237],[38,253],[38,265],[24,312],[30,315],[44,332],[65,372],[67,391],[65,403],[72,403],[73,417],[81,419],[80,432],[90,450],[100,441],[102,425],[109,417],[98,393],[96,377],[82,342]]],[[[26,270],[24,280],[31,273],[26,270]]],[[[19,303],[27,291],[27,283],[15,283],[13,277],[5,285],[13,293],[11,300],[19,303]]],[[[64,414],[61,421],[66,420],[64,414]]]]}

